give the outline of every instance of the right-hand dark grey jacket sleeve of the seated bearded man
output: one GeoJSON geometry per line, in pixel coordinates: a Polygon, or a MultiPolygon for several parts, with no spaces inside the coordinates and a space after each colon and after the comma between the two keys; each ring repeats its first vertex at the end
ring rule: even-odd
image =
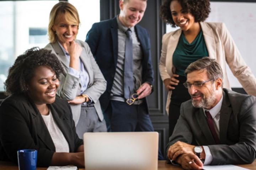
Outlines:
{"type": "MultiPolygon", "coordinates": [[[[239,142],[234,145],[209,145],[211,165],[250,164],[256,158],[256,100],[245,98],[239,113],[239,142]]],[[[220,127],[221,128],[221,127],[220,127]]]]}

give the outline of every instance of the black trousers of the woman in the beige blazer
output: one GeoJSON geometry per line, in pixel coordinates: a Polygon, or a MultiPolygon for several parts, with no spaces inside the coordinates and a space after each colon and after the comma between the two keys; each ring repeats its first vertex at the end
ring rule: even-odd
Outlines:
{"type": "Polygon", "coordinates": [[[180,75],[177,79],[179,83],[175,86],[175,89],[172,90],[171,103],[169,106],[169,137],[172,135],[177,120],[180,117],[181,103],[191,99],[188,89],[183,85],[186,81],[186,77],[180,75]]]}

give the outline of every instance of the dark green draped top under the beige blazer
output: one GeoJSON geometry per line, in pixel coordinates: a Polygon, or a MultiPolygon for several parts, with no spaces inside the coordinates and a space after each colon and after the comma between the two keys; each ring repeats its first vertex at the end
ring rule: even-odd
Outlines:
{"type": "Polygon", "coordinates": [[[208,56],[208,50],[202,30],[200,30],[191,44],[188,43],[182,32],[172,57],[172,63],[176,68],[176,74],[185,76],[184,72],[190,63],[208,56]]]}

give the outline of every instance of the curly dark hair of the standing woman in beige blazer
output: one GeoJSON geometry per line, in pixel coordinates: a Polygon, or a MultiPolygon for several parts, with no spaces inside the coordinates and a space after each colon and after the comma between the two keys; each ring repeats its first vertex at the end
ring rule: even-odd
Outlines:
{"type": "MultiPolygon", "coordinates": [[[[176,27],[171,15],[170,5],[173,0],[165,0],[160,7],[160,15],[165,23],[176,27]]],[[[209,0],[177,0],[180,2],[183,10],[188,11],[194,17],[195,22],[203,22],[210,13],[209,0]]]]}

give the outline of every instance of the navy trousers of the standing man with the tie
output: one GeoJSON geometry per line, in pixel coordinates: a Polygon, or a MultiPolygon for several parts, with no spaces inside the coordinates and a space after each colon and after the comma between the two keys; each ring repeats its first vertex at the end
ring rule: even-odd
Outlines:
{"type": "MultiPolygon", "coordinates": [[[[154,131],[146,107],[145,103],[128,105],[126,102],[111,100],[108,108],[103,112],[108,131],[154,131]]],[[[158,159],[164,160],[160,150],[158,159]]]]}

